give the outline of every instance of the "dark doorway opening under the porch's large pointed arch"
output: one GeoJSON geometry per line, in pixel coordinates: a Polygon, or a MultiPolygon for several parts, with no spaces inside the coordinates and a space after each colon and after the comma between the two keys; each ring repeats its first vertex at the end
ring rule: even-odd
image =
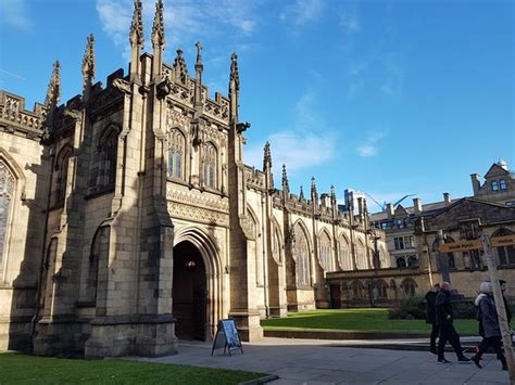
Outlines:
{"type": "Polygon", "coordinates": [[[174,316],[178,338],[205,341],[206,279],[199,249],[190,242],[174,247],[174,316]]]}

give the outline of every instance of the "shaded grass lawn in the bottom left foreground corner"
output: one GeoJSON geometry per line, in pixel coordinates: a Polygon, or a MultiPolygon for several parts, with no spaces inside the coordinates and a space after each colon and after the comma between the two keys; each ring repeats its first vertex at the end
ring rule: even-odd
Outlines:
{"type": "Polygon", "coordinates": [[[0,384],[237,384],[264,374],[187,365],[0,354],[0,384]]]}

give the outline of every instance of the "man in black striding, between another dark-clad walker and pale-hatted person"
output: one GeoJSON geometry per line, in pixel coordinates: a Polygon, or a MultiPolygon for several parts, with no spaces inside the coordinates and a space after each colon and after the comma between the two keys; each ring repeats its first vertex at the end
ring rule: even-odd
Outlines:
{"type": "Polygon", "coordinates": [[[457,356],[457,361],[460,363],[469,363],[470,359],[463,355],[460,335],[453,326],[454,315],[451,305],[451,284],[449,282],[440,283],[440,292],[435,301],[435,310],[437,324],[440,329],[440,336],[438,338],[438,362],[451,363],[443,355],[445,344],[449,341],[457,356]]]}

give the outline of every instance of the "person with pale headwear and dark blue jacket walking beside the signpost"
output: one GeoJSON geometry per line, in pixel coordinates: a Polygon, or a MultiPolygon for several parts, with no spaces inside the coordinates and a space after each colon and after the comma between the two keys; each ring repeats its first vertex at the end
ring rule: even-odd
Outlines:
{"type": "Polygon", "coordinates": [[[493,300],[491,282],[482,282],[480,292],[483,295],[480,294],[476,300],[479,299],[479,309],[485,336],[472,360],[476,367],[482,368],[479,363],[482,354],[487,351],[489,347],[493,347],[499,360],[501,360],[502,370],[507,370],[506,358],[502,350],[501,328],[499,325],[498,311],[493,300]]]}

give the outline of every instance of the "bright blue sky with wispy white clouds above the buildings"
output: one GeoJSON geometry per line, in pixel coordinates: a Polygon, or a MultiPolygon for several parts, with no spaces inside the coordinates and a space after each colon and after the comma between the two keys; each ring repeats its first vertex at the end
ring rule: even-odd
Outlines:
{"type": "MultiPolygon", "coordinates": [[[[86,37],[97,80],[127,69],[131,0],[0,0],[0,88],[43,101],[52,63],[62,101],[81,91],[86,37]]],[[[377,201],[470,195],[469,175],[503,158],[515,169],[514,2],[164,0],[165,60],[181,47],[193,75],[227,93],[239,54],[246,163],[271,141],[276,184],[331,184],[377,201]]],[[[143,1],[146,49],[154,2],[143,1]]],[[[411,200],[407,201],[411,203],[411,200]]],[[[378,207],[372,202],[370,210],[378,207]]]]}

